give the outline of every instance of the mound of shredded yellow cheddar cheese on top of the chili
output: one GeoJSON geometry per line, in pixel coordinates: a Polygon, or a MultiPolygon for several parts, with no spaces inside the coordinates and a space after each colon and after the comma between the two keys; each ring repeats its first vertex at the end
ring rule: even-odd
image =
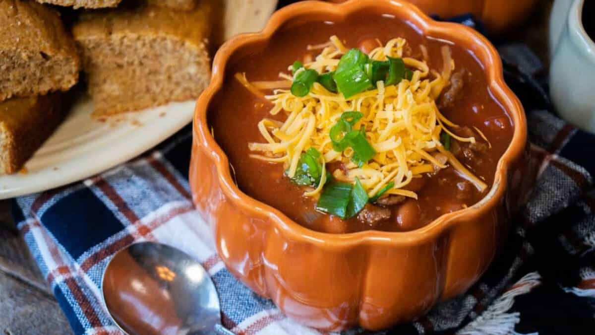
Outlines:
{"type": "MultiPolygon", "coordinates": [[[[379,43],[380,44],[380,43],[379,43]]],[[[396,38],[384,46],[378,46],[369,53],[371,60],[384,61],[387,57],[402,58],[403,63],[413,70],[411,80],[403,79],[396,85],[385,86],[375,83],[375,88],[345,98],[343,94],[327,91],[315,82],[311,91],[304,97],[296,97],[288,89],[292,76],[281,73],[276,82],[250,83],[242,73],[236,78],[254,94],[266,98],[274,107],[270,114],[283,111],[285,122],[263,119],[258,123],[264,142],[251,142],[249,149],[254,159],[283,163],[287,175],[296,173],[300,154],[310,147],[322,154],[322,168],[325,163],[343,162],[348,173],[342,170],[331,171],[334,178],[355,182],[359,178],[368,195],[374,196],[389,182],[394,187],[386,194],[397,194],[417,198],[417,194],[404,190],[413,178],[424,173],[434,173],[447,167],[449,163],[459,175],[483,191],[487,185],[474,176],[455,156],[444,149],[440,133],[446,132],[461,142],[475,142],[474,137],[464,138],[454,134],[449,128],[458,125],[446,119],[436,106],[436,99],[448,85],[455,63],[450,49],[443,46],[441,54],[443,66],[440,72],[428,67],[427,50],[422,48],[424,60],[404,57],[405,39],[396,38]],[[273,94],[264,95],[261,89],[273,89],[273,94]],[[352,162],[353,149],[347,147],[341,152],[333,150],[329,137],[330,129],[345,111],[359,111],[364,116],[353,129],[365,129],[365,137],[376,151],[369,162],[358,166],[352,162]],[[446,157],[446,158],[444,158],[446,157]]],[[[339,58],[347,48],[337,36],[331,36],[325,44],[309,46],[308,49],[321,49],[313,60],[303,64],[305,69],[325,73],[337,69],[339,58]]],[[[481,137],[485,138],[483,134],[481,137]]],[[[487,139],[486,139],[487,140],[487,139]]],[[[325,182],[322,173],[320,184],[310,188],[305,195],[317,196],[325,182]]]]}

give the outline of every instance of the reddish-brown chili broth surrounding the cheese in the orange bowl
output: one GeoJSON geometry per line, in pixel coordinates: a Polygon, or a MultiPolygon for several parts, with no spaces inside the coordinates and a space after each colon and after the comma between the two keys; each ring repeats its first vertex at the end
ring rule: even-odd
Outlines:
{"type": "MultiPolygon", "coordinates": [[[[278,80],[278,73],[288,73],[287,67],[295,60],[302,60],[306,54],[315,56],[320,50],[307,51],[307,45],[321,44],[331,35],[337,35],[349,48],[358,47],[362,41],[379,39],[384,45],[392,38],[402,37],[412,49],[412,57],[421,59],[419,45],[428,49],[428,66],[440,72],[442,57],[440,48],[448,45],[455,61],[455,71],[461,68],[471,73],[464,86],[464,97],[455,105],[441,109],[449,120],[468,127],[477,127],[488,138],[490,150],[479,157],[481,164],[465,162],[468,168],[488,185],[493,183],[497,162],[512,139],[513,125],[505,110],[488,91],[486,76],[481,64],[473,55],[448,41],[425,38],[415,29],[396,18],[375,13],[359,14],[344,22],[308,22],[277,32],[267,45],[253,48],[228,64],[223,90],[209,106],[208,120],[214,129],[215,139],[226,152],[236,172],[239,188],[248,196],[256,198],[280,210],[299,224],[327,232],[355,232],[365,229],[400,231],[393,216],[386,222],[369,227],[356,218],[342,221],[337,218],[324,218],[325,214],[315,210],[312,198],[303,196],[304,190],[293,184],[283,173],[281,163],[268,163],[249,157],[248,142],[262,142],[258,122],[265,118],[283,121],[283,112],[276,116],[269,114],[273,105],[255,97],[236,79],[236,72],[245,72],[248,80],[278,80]]],[[[476,137],[477,138],[477,137],[476,137]]],[[[424,188],[418,192],[419,227],[426,225],[443,213],[471,206],[481,200],[483,193],[473,188],[468,198],[458,199],[457,183],[463,179],[452,169],[441,170],[433,178],[427,179],[424,188]]],[[[489,190],[489,187],[488,187],[489,190]]],[[[418,228],[418,227],[415,227],[418,228]]]]}

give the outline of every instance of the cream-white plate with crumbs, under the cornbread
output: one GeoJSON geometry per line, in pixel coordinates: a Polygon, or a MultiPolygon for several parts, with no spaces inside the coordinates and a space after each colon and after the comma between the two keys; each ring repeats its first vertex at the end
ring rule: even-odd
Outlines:
{"type": "MultiPolygon", "coordinates": [[[[226,3],[225,39],[261,30],[277,6],[277,0],[226,3]]],[[[194,106],[194,100],[170,103],[99,122],[90,117],[92,102],[82,97],[23,172],[0,176],[0,198],[60,187],[126,162],[190,123],[194,106]]]]}

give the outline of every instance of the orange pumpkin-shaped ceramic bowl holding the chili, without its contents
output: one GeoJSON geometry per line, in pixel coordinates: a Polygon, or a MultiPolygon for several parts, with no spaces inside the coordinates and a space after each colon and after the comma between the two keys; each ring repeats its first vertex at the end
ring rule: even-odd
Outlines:
{"type": "Polygon", "coordinates": [[[474,30],[433,21],[400,1],[297,2],[277,11],[262,32],[227,42],[215,55],[211,84],[196,104],[193,136],[193,200],[212,225],[218,253],[229,271],[256,293],[273,299],[288,317],[323,330],[390,327],[468,289],[506,237],[509,215],[518,207],[522,181],[527,179],[523,178],[525,116],[503,81],[494,47],[474,30]],[[342,20],[370,7],[472,52],[483,64],[491,94],[511,117],[515,131],[497,165],[493,187],[474,206],[408,232],[312,231],[239,190],[226,154],[212,137],[207,111],[222,88],[227,61],[236,52],[270,39],[293,20],[342,20]]]}

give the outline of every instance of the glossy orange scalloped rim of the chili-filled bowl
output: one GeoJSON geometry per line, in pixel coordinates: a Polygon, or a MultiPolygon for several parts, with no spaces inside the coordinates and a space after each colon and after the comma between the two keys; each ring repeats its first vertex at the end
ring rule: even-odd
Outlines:
{"type": "MultiPolygon", "coordinates": [[[[469,49],[466,46],[464,48],[469,49]]],[[[343,2],[342,4],[309,0],[281,8],[271,16],[261,32],[238,35],[221,46],[214,57],[211,83],[196,102],[195,116],[193,118],[193,135],[193,141],[201,142],[201,150],[205,150],[207,156],[210,156],[217,166],[219,182],[227,200],[233,201],[234,204],[242,207],[247,212],[253,212],[259,217],[267,217],[274,222],[281,232],[291,235],[293,239],[308,241],[309,243],[317,244],[319,247],[352,247],[362,243],[412,245],[425,243],[431,238],[437,238],[441,235],[441,232],[446,231],[446,229],[455,225],[456,222],[479,218],[488,212],[488,210],[498,206],[499,201],[505,196],[505,191],[509,186],[506,178],[507,172],[510,170],[511,164],[521,157],[527,142],[527,121],[520,101],[504,82],[502,61],[496,48],[475,30],[462,24],[435,21],[422,13],[414,5],[401,2],[400,0],[353,0],[343,2]],[[280,210],[248,196],[234,184],[230,169],[228,168],[228,158],[223,149],[215,141],[207,123],[208,105],[211,102],[211,98],[223,86],[227,60],[233,52],[242,46],[270,39],[284,22],[304,13],[305,10],[314,10],[317,13],[345,17],[353,12],[375,6],[402,8],[408,12],[409,19],[415,27],[421,29],[424,35],[431,35],[431,33],[438,32],[442,35],[452,37],[455,41],[464,39],[466,42],[480,48],[485,55],[478,59],[478,61],[480,61],[486,72],[488,88],[491,94],[496,95],[496,101],[503,104],[509,117],[512,117],[515,130],[509,147],[502,157],[500,157],[497,164],[496,176],[490,191],[482,200],[473,206],[442,215],[430,222],[430,224],[413,231],[387,232],[367,230],[349,234],[330,234],[314,231],[297,224],[297,222],[281,213],[280,210]],[[488,64],[484,64],[482,61],[483,57],[487,57],[488,64]]]]}

